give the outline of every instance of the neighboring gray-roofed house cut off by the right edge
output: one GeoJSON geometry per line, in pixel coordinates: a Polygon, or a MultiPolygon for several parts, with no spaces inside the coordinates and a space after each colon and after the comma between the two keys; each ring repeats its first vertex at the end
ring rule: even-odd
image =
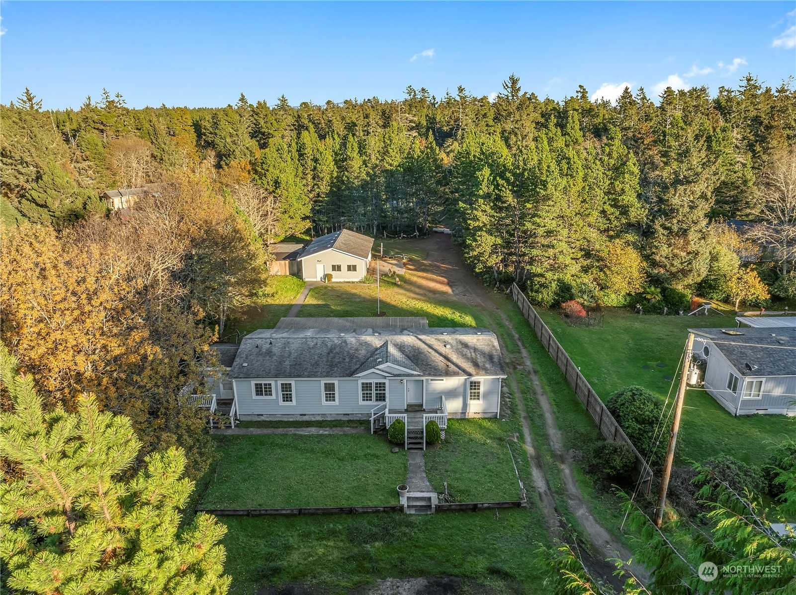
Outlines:
{"type": "Polygon", "coordinates": [[[796,328],[689,329],[704,387],[733,415],[796,415],[796,328]]]}

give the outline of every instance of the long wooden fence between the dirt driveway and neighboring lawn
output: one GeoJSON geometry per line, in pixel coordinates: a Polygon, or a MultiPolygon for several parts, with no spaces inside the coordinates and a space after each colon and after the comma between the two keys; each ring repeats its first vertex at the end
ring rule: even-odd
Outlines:
{"type": "Polygon", "coordinates": [[[523,316],[525,316],[531,327],[533,327],[533,332],[537,333],[541,344],[544,345],[544,348],[547,349],[552,359],[558,364],[567,382],[575,391],[575,394],[578,395],[578,399],[580,399],[580,402],[586,407],[589,415],[591,415],[591,419],[594,420],[599,428],[600,433],[603,434],[606,440],[624,442],[626,445],[630,446],[630,450],[633,451],[636,457],[634,478],[639,480],[639,489],[641,492],[645,495],[649,494],[652,481],[652,469],[646,464],[644,457],[638,453],[636,447],[630,442],[630,438],[628,438],[622,431],[622,428],[619,427],[614,416],[611,415],[611,412],[600,400],[599,395],[591,388],[587,379],[583,378],[583,374],[581,374],[578,367],[572,363],[567,352],[561,347],[556,337],[552,335],[552,332],[548,329],[548,325],[544,324],[544,321],[539,314],[537,314],[537,311],[533,309],[533,305],[531,305],[528,298],[521,292],[520,288],[517,287],[516,283],[512,283],[511,285],[511,294],[514,301],[520,306],[523,316]]]}

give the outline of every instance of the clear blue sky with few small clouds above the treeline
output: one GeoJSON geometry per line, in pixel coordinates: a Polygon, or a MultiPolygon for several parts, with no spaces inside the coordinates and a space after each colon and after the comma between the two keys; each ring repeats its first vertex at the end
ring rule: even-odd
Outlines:
{"type": "Polygon", "coordinates": [[[796,2],[2,2],[0,101],[104,88],[131,107],[437,97],[464,85],[561,99],[583,84],[734,86],[796,75],[796,2]]]}

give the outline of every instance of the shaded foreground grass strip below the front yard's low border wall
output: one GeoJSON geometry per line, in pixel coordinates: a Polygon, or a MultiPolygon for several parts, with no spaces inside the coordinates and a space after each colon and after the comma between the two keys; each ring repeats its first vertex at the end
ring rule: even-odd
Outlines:
{"type": "Polygon", "coordinates": [[[233,595],[297,581],[310,593],[348,593],[382,578],[444,575],[483,585],[462,593],[547,592],[534,553],[543,524],[523,509],[220,520],[233,595]]]}

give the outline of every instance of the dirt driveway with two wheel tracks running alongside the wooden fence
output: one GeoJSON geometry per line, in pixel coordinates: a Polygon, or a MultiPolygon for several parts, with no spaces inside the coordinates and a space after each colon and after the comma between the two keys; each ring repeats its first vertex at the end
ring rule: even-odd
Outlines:
{"type": "MultiPolygon", "coordinates": [[[[559,480],[563,480],[567,506],[578,519],[581,531],[587,535],[587,539],[591,542],[595,552],[595,558],[587,562],[587,566],[589,566],[592,574],[600,577],[603,581],[607,581],[616,587],[621,587],[622,581],[613,575],[615,566],[611,562],[607,562],[607,560],[621,558],[626,561],[631,558],[632,554],[605,527],[602,527],[594,515],[591,514],[591,507],[583,498],[583,494],[580,492],[572,472],[572,458],[564,448],[564,441],[556,424],[550,399],[539,381],[536,368],[533,366],[533,361],[525,349],[520,336],[513,329],[509,319],[494,303],[490,292],[486,290],[486,287],[474,277],[470,269],[464,264],[461,252],[458,246],[451,241],[450,235],[435,234],[427,239],[410,240],[410,243],[427,251],[426,259],[408,263],[407,268],[413,273],[413,282],[430,290],[449,293],[452,298],[458,301],[478,307],[479,311],[487,319],[494,321],[497,317],[509,329],[512,335],[511,339],[520,349],[521,359],[519,362],[514,361],[509,356],[509,353],[505,351],[505,344],[501,340],[504,360],[509,367],[509,378],[507,381],[513,388],[518,401],[517,406],[521,412],[525,450],[533,473],[534,488],[547,521],[548,532],[552,537],[560,537],[564,527],[563,523],[561,523],[561,512],[556,507],[544,465],[534,442],[535,440],[544,439],[548,441],[552,449],[560,472],[560,478],[552,478],[552,480],[556,484],[559,483],[559,480]],[[521,394],[515,376],[517,371],[530,375],[535,395],[521,394]],[[530,429],[528,410],[524,400],[533,399],[533,396],[536,396],[544,414],[544,436],[534,437],[530,429]]],[[[493,324],[493,326],[496,325],[493,324]]],[[[500,338],[499,334],[498,338],[500,338]]],[[[649,579],[649,572],[642,566],[633,564],[630,567],[630,571],[642,583],[646,583],[649,579]]]]}

